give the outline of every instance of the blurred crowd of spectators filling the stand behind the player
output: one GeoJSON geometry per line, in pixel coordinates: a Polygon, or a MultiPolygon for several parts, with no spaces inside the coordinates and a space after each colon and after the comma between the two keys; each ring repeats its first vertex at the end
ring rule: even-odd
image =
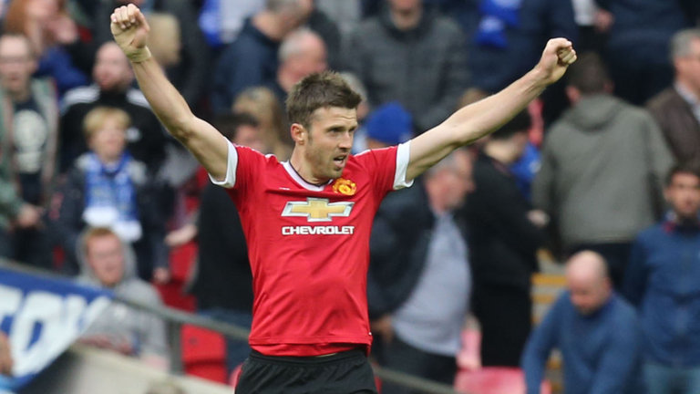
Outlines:
{"type": "MultiPolygon", "coordinates": [[[[359,152],[438,125],[528,72],[548,38],[569,38],[580,58],[564,80],[380,207],[368,277],[373,354],[451,384],[473,314],[481,365],[522,362],[534,387],[540,358],[575,342],[567,330],[597,329],[592,343],[605,343],[632,319],[639,339],[630,332],[616,357],[639,358],[644,377],[666,382],[650,392],[674,392],[677,376],[698,385],[700,3],[0,3],[0,255],[242,327],[252,320],[252,276],[238,214],[162,129],[111,41],[108,16],[126,3],[148,16],[150,50],[195,114],[280,161],[293,149],[287,93],[311,73],[337,70],[361,93],[359,152]],[[528,344],[530,277],[545,254],[578,258],[567,265],[561,316],[528,344]],[[613,301],[623,306],[611,318],[623,323],[583,318],[613,301]],[[582,321],[562,317],[577,313],[582,321]],[[523,355],[526,345],[535,353],[523,355]]],[[[164,330],[111,310],[83,340],[162,364],[164,330]],[[104,335],[119,331],[127,334],[104,335]]],[[[627,384],[617,380],[634,375],[634,362],[612,377],[590,370],[606,348],[565,357],[578,372],[567,386],[582,387],[571,392],[623,392],[615,384],[627,384]],[[612,390],[592,389],[610,379],[612,390]]],[[[230,341],[229,368],[248,352],[230,341]]]]}

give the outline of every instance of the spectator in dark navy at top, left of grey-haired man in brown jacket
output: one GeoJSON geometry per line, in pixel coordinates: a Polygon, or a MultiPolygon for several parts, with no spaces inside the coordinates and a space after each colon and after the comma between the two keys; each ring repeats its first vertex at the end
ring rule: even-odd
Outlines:
{"type": "Polygon", "coordinates": [[[654,97],[673,79],[668,44],[675,32],[691,26],[683,3],[695,0],[596,0],[608,33],[605,60],[615,95],[632,103],[654,97]]]}

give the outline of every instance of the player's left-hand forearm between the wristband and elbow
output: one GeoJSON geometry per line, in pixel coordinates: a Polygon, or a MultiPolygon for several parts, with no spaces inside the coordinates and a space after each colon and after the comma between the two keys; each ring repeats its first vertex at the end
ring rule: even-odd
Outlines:
{"type": "Polygon", "coordinates": [[[182,98],[162,68],[153,57],[141,62],[132,62],[136,79],[139,81],[139,88],[146,99],[149,100],[150,108],[178,140],[186,139],[187,125],[192,121],[194,115],[182,98]]]}

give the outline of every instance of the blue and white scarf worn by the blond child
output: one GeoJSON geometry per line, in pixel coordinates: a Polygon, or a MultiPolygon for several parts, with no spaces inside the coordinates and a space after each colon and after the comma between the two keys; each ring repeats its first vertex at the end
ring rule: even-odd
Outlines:
{"type": "Polygon", "coordinates": [[[85,172],[83,220],[93,227],[108,227],[125,242],[141,238],[136,190],[129,177],[131,155],[124,152],[118,163],[106,166],[98,155],[88,153],[85,172]]]}

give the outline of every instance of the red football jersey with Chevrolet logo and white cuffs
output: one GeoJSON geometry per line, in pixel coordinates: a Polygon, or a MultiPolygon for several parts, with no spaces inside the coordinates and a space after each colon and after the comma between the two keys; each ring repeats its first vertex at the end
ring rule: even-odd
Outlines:
{"type": "Polygon", "coordinates": [[[407,166],[407,143],[367,150],[319,186],[288,161],[229,146],[226,180],[215,183],[230,188],[248,243],[253,349],[316,356],[372,343],[369,236],[386,193],[410,186],[407,166]]]}

